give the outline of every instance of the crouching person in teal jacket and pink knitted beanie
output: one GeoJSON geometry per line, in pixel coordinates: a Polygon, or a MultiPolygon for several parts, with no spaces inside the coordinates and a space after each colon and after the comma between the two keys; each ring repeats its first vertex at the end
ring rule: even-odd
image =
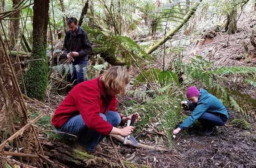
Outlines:
{"type": "Polygon", "coordinates": [[[214,95],[202,88],[198,90],[197,87],[191,86],[187,88],[186,96],[187,100],[182,101],[181,104],[188,104],[192,113],[178,128],[173,130],[173,134],[188,128],[198,120],[203,125],[201,131],[210,135],[214,132],[216,126],[223,126],[227,122],[227,109],[214,95]]]}

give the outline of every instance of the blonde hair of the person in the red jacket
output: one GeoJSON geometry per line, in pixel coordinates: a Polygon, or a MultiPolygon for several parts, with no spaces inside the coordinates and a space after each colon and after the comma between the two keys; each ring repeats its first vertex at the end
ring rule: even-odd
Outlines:
{"type": "Polygon", "coordinates": [[[102,74],[100,80],[107,90],[112,89],[117,93],[125,94],[125,87],[130,82],[130,77],[121,66],[113,66],[102,74]]]}

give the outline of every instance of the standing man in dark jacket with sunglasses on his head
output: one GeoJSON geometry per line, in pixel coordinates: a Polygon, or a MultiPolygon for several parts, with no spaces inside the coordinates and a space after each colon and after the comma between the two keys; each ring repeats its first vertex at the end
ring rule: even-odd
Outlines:
{"type": "Polygon", "coordinates": [[[68,17],[66,22],[69,30],[66,32],[62,50],[71,61],[71,82],[73,83],[77,79],[78,81],[74,83],[76,85],[84,81],[84,69],[87,66],[88,54],[92,51],[92,47],[86,31],[78,26],[77,18],[68,17]]]}

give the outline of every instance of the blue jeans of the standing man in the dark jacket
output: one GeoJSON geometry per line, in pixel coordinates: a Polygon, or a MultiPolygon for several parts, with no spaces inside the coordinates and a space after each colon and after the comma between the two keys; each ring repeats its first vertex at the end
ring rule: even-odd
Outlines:
{"type": "Polygon", "coordinates": [[[71,68],[71,83],[73,83],[75,81],[75,79],[78,80],[77,82],[74,83],[74,85],[77,85],[78,83],[81,83],[83,81],[87,81],[86,77],[84,77],[84,69],[87,66],[87,61],[88,60],[84,60],[75,66],[73,66],[73,65],[71,66],[72,67],[71,68]]]}

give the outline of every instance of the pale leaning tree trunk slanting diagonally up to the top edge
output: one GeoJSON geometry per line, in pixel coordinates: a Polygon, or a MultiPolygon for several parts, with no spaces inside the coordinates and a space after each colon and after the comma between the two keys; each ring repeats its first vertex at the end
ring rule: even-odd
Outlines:
{"type": "MultiPolygon", "coordinates": [[[[200,2],[202,0],[199,0],[200,2]]],[[[193,5],[193,7],[191,8],[191,10],[189,12],[187,12],[187,14],[183,17],[183,20],[178,23],[175,28],[173,28],[171,31],[169,31],[168,34],[165,35],[165,37],[162,37],[160,40],[158,40],[158,42],[154,43],[152,46],[149,46],[149,48],[146,50],[147,54],[152,53],[153,51],[155,51],[158,47],[160,47],[162,44],[164,44],[167,40],[169,40],[170,38],[172,38],[172,36],[175,35],[175,33],[177,33],[177,31],[179,29],[181,29],[181,27],[183,25],[185,25],[185,23],[187,21],[189,21],[190,17],[193,16],[193,14],[195,13],[195,10],[197,9],[197,6],[199,5],[199,3],[195,3],[193,5]]]]}

